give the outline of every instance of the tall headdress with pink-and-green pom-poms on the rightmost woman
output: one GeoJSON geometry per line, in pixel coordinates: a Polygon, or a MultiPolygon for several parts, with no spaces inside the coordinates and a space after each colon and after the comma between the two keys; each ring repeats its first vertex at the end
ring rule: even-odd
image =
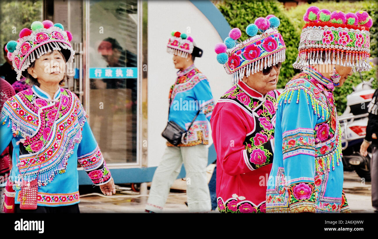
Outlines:
{"type": "Polygon", "coordinates": [[[303,16],[306,22],[299,42],[299,54],[293,67],[333,64],[366,71],[369,64],[369,28],[373,21],[365,11],[344,14],[311,6],[303,16]]]}

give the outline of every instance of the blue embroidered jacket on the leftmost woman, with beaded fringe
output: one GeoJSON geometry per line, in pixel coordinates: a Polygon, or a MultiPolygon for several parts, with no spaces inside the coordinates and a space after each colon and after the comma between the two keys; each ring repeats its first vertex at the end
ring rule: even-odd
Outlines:
{"type": "Polygon", "coordinates": [[[78,203],[77,161],[95,185],[110,180],[87,117],[79,98],[64,88],[51,99],[34,85],[5,102],[0,116],[0,151],[12,141],[15,203],[22,203],[18,197],[21,177],[27,181],[38,178],[37,205],[78,203]]]}

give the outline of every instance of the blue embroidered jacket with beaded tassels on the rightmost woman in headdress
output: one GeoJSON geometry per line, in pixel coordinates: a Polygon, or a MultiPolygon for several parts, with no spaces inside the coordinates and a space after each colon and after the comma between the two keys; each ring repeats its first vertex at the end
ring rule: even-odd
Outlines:
{"type": "Polygon", "coordinates": [[[280,95],[267,212],[350,212],[342,189],[341,128],[331,90],[330,79],[306,68],[280,95]]]}

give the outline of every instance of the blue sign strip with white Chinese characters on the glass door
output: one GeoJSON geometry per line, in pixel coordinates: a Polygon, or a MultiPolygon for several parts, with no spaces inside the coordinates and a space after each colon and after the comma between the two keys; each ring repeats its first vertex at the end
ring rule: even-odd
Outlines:
{"type": "Polygon", "coordinates": [[[138,67],[89,68],[89,78],[138,78],[138,67]]]}

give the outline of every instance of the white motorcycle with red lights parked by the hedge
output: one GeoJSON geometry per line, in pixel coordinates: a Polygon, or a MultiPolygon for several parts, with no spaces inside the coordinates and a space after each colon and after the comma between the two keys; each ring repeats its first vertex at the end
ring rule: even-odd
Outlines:
{"type": "Polygon", "coordinates": [[[373,79],[363,80],[356,87],[353,86],[353,92],[347,95],[347,107],[338,117],[342,130],[341,146],[344,171],[355,170],[359,177],[365,178],[366,182],[371,181],[370,160],[372,152],[369,147],[368,155],[364,157],[359,153],[359,149],[366,135],[369,115],[367,105],[372,101],[375,92],[372,85],[373,79]]]}

